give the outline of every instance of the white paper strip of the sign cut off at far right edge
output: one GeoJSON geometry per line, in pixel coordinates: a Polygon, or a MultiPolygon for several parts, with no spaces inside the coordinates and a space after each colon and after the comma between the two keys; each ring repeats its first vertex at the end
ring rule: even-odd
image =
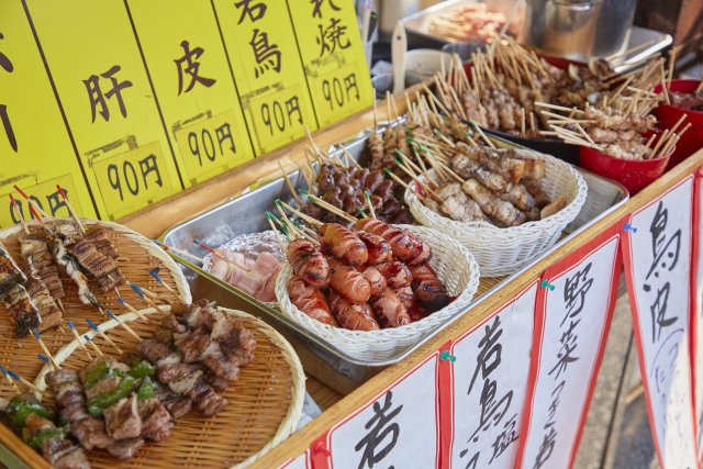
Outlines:
{"type": "MultiPolygon", "coordinates": [[[[703,212],[703,182],[699,189],[699,211],[703,212]]],[[[703,456],[703,213],[699,215],[699,225],[694,227],[699,243],[699,257],[695,280],[695,418],[698,422],[698,455],[699,460],[703,456]]]]}

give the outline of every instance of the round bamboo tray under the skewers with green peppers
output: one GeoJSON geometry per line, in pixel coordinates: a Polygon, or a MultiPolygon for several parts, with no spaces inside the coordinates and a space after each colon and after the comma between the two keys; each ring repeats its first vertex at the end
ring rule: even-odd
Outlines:
{"type": "MultiPolygon", "coordinates": [[[[222,393],[230,404],[210,418],[192,411],[175,422],[168,439],[145,444],[136,456],[127,460],[114,459],[104,451],[87,451],[93,468],[244,468],[295,429],[302,415],[305,376],[293,348],[263,321],[242,311],[220,310],[243,322],[257,340],[254,361],[243,367],[239,380],[222,393]]],[[[148,309],[142,313],[157,316],[157,320],[149,324],[138,321],[134,313],[120,319],[129,322],[142,338],[148,338],[156,324],[160,323],[158,316],[170,314],[170,309],[164,306],[158,312],[148,309]]],[[[114,320],[99,327],[109,332],[110,338],[123,350],[134,350],[136,339],[114,320]]],[[[88,334],[100,344],[103,353],[115,353],[99,336],[96,337],[93,331],[88,334]]],[[[76,369],[89,361],[77,340],[62,348],[55,358],[59,366],[76,369]]],[[[44,377],[48,371],[47,365],[36,377],[35,384],[40,389],[46,388],[44,377]]],[[[47,402],[53,404],[53,398],[47,402]]]]}

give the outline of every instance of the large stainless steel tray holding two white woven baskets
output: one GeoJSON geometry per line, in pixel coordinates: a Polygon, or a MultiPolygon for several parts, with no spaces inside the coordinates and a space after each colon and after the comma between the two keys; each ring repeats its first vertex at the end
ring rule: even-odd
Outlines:
{"type": "MultiPolygon", "coordinates": [[[[346,145],[346,147],[355,158],[362,158],[366,149],[366,141],[367,137],[359,138],[346,145]]],[[[534,261],[523,270],[503,279],[491,290],[476,298],[470,308],[481,303],[496,289],[510,282],[551,250],[567,243],[599,219],[625,203],[629,198],[627,190],[617,182],[581,169],[579,170],[589,186],[589,193],[581,213],[565,231],[565,238],[551,249],[534,259],[534,261]]],[[[289,177],[297,188],[304,185],[298,171],[289,175],[289,177]]],[[[283,178],[271,180],[222,205],[171,227],[161,235],[161,239],[168,245],[202,257],[207,253],[194,246],[192,243],[193,239],[201,239],[216,247],[239,234],[269,230],[264,217],[264,212],[267,210],[274,211],[274,200],[279,198],[283,200],[292,199],[292,194],[288,190],[283,178]]],[[[260,303],[227,282],[207,273],[200,266],[177,255],[171,255],[185,266],[185,273],[194,299],[208,298],[217,301],[223,306],[244,310],[261,317],[261,320],[276,327],[293,345],[308,373],[342,393],[350,392],[384,367],[403,360],[413,350],[421,347],[425,342],[456,321],[455,317],[440,327],[437,327],[421,342],[408,347],[393,359],[360,361],[337,350],[333,344],[309,334],[302,325],[281,315],[275,309],[260,303]]]]}

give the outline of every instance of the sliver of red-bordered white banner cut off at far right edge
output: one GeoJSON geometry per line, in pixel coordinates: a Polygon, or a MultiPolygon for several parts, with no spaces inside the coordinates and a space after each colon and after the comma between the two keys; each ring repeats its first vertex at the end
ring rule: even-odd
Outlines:
{"type": "Polygon", "coordinates": [[[703,169],[695,172],[693,223],[692,301],[691,326],[693,327],[693,392],[695,442],[699,461],[703,458],[703,169]]]}

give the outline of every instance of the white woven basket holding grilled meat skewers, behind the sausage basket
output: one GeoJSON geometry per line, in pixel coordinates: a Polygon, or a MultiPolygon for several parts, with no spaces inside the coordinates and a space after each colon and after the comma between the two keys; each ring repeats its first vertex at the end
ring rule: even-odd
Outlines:
{"type": "Polygon", "coordinates": [[[561,194],[567,197],[567,205],[544,220],[507,228],[486,222],[457,222],[425,206],[414,191],[405,191],[405,202],[415,220],[458,239],[469,248],[483,277],[511,275],[554,246],[563,228],[578,216],[588,196],[585,180],[572,166],[537,152],[520,152],[531,158],[545,160],[546,177],[540,185],[550,199],[561,194]]]}

